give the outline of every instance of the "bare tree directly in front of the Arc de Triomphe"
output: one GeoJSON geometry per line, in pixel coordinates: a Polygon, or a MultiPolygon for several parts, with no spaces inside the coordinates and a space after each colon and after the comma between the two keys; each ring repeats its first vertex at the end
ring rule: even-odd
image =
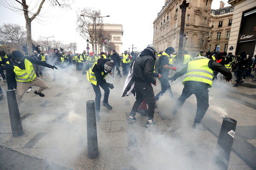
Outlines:
{"type": "Polygon", "coordinates": [[[84,40],[90,40],[93,52],[95,52],[94,48],[96,48],[95,40],[99,42],[103,29],[103,19],[100,15],[100,11],[96,11],[91,8],[84,8],[81,10],[81,13],[77,14],[77,31],[84,40]]]}

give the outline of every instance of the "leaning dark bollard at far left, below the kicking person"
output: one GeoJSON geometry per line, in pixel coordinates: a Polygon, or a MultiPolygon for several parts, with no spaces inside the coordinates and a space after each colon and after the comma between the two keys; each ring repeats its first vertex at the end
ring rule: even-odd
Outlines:
{"type": "Polygon", "coordinates": [[[6,91],[9,115],[12,127],[12,136],[17,137],[23,135],[23,128],[20,119],[20,112],[18,108],[18,103],[15,95],[15,91],[6,91]]]}

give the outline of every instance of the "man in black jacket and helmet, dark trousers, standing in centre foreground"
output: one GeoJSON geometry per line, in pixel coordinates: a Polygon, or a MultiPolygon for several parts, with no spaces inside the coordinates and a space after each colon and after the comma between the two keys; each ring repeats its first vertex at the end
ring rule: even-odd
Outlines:
{"type": "Polygon", "coordinates": [[[128,122],[135,122],[134,117],[140,107],[141,103],[145,99],[148,104],[148,117],[146,121],[146,126],[154,126],[154,109],[155,109],[155,97],[152,85],[157,85],[157,81],[153,77],[154,72],[154,61],[156,60],[157,50],[154,45],[148,45],[140,56],[138,56],[134,61],[134,90],[136,92],[136,101],[131,109],[131,113],[128,122]]]}

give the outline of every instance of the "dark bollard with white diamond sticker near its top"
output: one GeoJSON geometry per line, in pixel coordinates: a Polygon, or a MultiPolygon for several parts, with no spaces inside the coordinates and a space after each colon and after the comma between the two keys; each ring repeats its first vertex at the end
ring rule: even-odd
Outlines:
{"type": "Polygon", "coordinates": [[[227,170],[228,168],[236,131],[236,123],[236,120],[232,118],[227,117],[223,119],[216,147],[219,154],[215,158],[219,170],[227,170]]]}

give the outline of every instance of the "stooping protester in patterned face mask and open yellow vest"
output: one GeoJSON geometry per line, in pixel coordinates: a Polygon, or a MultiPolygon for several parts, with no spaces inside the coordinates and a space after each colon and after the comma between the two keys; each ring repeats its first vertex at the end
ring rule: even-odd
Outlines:
{"type": "Polygon", "coordinates": [[[104,90],[103,105],[108,109],[112,109],[112,106],[108,104],[108,96],[110,93],[109,88],[113,89],[114,86],[111,83],[107,83],[105,77],[108,74],[112,75],[113,60],[110,59],[98,59],[97,62],[87,71],[87,79],[91,82],[93,86],[93,91],[95,92],[95,111],[96,118],[99,120],[100,111],[100,99],[101,92],[99,86],[104,90]]]}

